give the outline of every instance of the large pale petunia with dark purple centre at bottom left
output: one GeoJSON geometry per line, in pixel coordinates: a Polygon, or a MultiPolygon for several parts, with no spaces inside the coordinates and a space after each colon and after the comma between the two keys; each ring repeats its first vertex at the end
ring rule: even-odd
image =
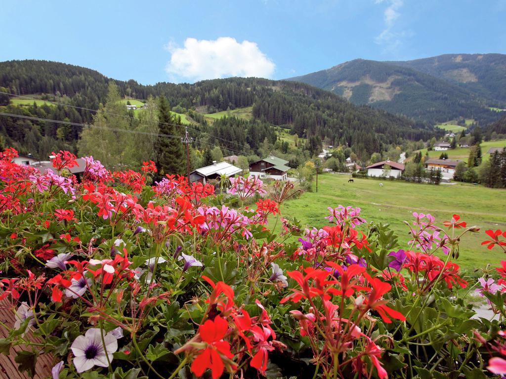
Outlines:
{"type": "Polygon", "coordinates": [[[74,354],[74,366],[77,372],[89,370],[93,366],[107,367],[112,361],[113,353],[118,349],[116,337],[107,333],[104,337],[105,349],[99,328],[91,328],[84,336],[78,336],[70,349],[74,354]]]}

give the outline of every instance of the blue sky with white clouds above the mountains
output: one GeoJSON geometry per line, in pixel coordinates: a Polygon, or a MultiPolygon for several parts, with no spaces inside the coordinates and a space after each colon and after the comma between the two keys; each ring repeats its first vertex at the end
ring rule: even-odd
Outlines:
{"type": "Polygon", "coordinates": [[[506,54],[506,0],[0,4],[0,61],[59,61],[143,84],[282,79],[356,58],[506,54]]]}

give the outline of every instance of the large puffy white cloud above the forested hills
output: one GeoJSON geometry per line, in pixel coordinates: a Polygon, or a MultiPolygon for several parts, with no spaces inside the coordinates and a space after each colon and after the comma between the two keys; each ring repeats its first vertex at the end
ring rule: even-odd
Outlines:
{"type": "Polygon", "coordinates": [[[172,77],[190,80],[229,76],[269,78],[276,67],[255,42],[244,40],[239,43],[231,37],[216,40],[187,38],[183,48],[173,43],[165,47],[172,54],[165,71],[172,77]]]}

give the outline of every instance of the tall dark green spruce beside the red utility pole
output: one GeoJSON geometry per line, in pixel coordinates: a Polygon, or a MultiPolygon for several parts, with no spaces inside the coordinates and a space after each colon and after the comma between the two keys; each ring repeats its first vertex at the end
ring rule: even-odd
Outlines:
{"type": "MultiPolygon", "coordinates": [[[[158,97],[158,132],[183,136],[183,126],[176,125],[170,106],[164,96],[158,97]]],[[[155,143],[156,167],[160,175],[183,174],[186,167],[184,145],[180,138],[158,136],[155,143]]]]}

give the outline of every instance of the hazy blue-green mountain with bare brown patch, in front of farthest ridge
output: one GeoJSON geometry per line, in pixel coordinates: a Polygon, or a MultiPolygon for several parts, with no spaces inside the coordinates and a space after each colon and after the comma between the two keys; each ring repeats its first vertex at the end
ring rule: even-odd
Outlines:
{"type": "Polygon", "coordinates": [[[457,84],[409,67],[357,59],[288,80],[340,94],[354,104],[368,104],[431,124],[458,117],[481,124],[497,119],[487,101],[457,84]]]}

